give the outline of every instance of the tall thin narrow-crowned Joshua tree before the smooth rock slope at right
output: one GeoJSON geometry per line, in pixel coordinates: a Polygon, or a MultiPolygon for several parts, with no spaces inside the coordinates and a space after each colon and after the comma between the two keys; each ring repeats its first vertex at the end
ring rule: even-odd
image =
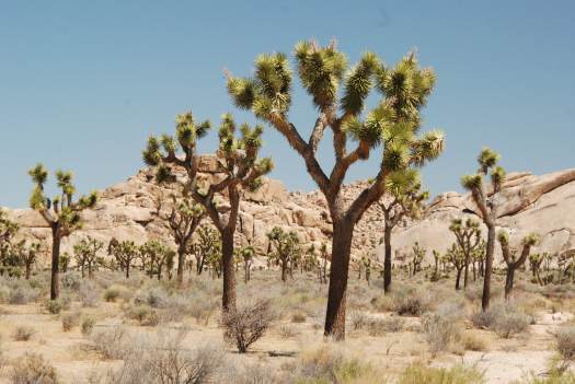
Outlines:
{"type": "Polygon", "coordinates": [[[483,278],[483,295],[481,309],[486,312],[490,307],[491,275],[493,270],[493,254],[495,252],[495,225],[497,221],[497,196],[505,181],[505,170],[497,165],[499,155],[488,148],[484,148],[478,156],[479,170],[474,175],[461,178],[463,187],[471,191],[471,197],[478,206],[481,219],[487,226],[487,247],[485,249],[485,271],[483,278]],[[491,172],[491,194],[487,194],[484,178],[491,172]]]}

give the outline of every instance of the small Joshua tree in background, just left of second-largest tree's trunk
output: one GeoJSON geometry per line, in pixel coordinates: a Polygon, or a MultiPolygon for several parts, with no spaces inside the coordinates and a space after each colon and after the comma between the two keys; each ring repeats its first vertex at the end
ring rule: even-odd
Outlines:
{"type": "Polygon", "coordinates": [[[194,203],[189,198],[182,198],[180,201],[172,195],[173,207],[168,217],[168,223],[177,245],[177,283],[184,283],[184,264],[192,235],[204,219],[205,210],[202,206],[194,203]]]}

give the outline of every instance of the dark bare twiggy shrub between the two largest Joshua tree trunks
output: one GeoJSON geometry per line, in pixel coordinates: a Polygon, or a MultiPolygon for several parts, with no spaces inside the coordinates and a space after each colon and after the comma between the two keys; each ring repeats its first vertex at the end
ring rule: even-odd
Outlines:
{"type": "Polygon", "coordinates": [[[240,353],[245,353],[252,344],[264,336],[273,318],[268,301],[238,306],[222,315],[223,337],[235,345],[240,353]]]}

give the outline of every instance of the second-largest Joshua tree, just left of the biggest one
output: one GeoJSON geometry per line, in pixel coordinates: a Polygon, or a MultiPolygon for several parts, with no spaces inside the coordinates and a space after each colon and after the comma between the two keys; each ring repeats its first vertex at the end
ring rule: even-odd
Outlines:
{"type": "Polygon", "coordinates": [[[222,117],[219,128],[218,161],[222,167],[225,178],[203,188],[198,183],[197,141],[207,135],[209,121],[196,124],[191,112],[179,115],[176,118],[176,138],[162,136],[151,137],[143,151],[143,161],[157,170],[159,182],[174,179],[168,164],[184,168],[184,195],[191,196],[200,203],[211,219],[214,226],[219,231],[222,242],[223,292],[222,309],[235,309],[235,271],[233,268],[233,234],[238,223],[241,190],[257,189],[262,182],[261,176],[269,173],[273,167],[268,158],[257,159],[262,147],[263,127],[257,125],[251,128],[241,126],[241,137],[235,138],[235,123],[230,114],[222,117]],[[180,147],[182,155],[179,154],[180,147]],[[226,194],[229,208],[219,208],[217,196],[226,194]]]}

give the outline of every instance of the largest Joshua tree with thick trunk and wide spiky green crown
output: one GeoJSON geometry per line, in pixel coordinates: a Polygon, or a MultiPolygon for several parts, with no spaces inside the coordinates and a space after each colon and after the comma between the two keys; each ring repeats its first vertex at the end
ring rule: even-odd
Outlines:
{"type": "Polygon", "coordinates": [[[348,68],[345,55],[334,42],[326,47],[314,42],[299,43],[295,57],[301,84],[318,108],[307,140],[289,118],[292,72],[286,55],[258,56],[252,78],[228,74],[228,91],[238,107],[251,109],[285,137],[325,196],[333,222],[333,246],[324,334],[342,340],[356,223],[383,195],[390,173],[421,166],[442,150],[444,137],[439,131],[417,137],[419,109],[432,93],[435,74],[430,69],[421,69],[413,53],[394,68],[386,67],[373,53],[366,53],[357,65],[348,68]],[[364,115],[365,102],[373,88],[381,98],[364,115]],[[317,153],[326,129],[332,130],[335,155],[329,172],[317,153]],[[352,149],[348,139],[354,141],[352,149]],[[373,183],[347,205],[341,190],[348,170],[367,160],[377,147],[382,148],[382,153],[373,183]]]}

